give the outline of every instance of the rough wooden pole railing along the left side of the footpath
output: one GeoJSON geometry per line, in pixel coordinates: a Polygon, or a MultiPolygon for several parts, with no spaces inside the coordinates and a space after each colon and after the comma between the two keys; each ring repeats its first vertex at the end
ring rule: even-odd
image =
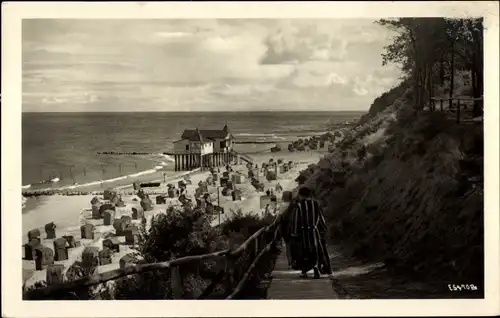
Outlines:
{"type": "MultiPolygon", "coordinates": [[[[138,264],[130,267],[120,268],[112,270],[109,272],[95,274],[86,276],[77,280],[64,282],[62,284],[51,285],[43,288],[37,288],[30,290],[26,293],[26,298],[28,299],[47,299],[53,294],[59,294],[64,292],[71,292],[72,290],[80,290],[85,287],[95,286],[107,281],[115,280],[121,277],[125,277],[133,274],[140,274],[155,270],[167,270],[171,271],[171,290],[173,299],[181,299],[183,295],[183,278],[180,273],[180,267],[187,263],[200,262],[202,260],[213,259],[217,257],[225,258],[225,268],[220,271],[209,286],[201,293],[198,299],[204,299],[210,295],[217,284],[219,284],[224,278],[227,278],[232,282],[232,272],[234,270],[234,265],[238,258],[245,252],[250,251],[253,254],[252,263],[246,269],[245,273],[239,280],[238,284],[231,293],[226,297],[226,299],[234,299],[238,297],[241,293],[245,284],[247,283],[249,277],[253,274],[255,268],[262,257],[269,253],[273,247],[277,248],[277,243],[281,239],[281,222],[283,217],[288,213],[288,209],[285,207],[281,213],[275,218],[274,222],[268,226],[262,227],[253,235],[251,235],[244,243],[234,250],[222,250],[210,254],[186,256],[166,262],[151,263],[151,264],[138,264]],[[272,236],[270,235],[272,234],[272,236]],[[270,239],[269,239],[270,238],[270,239]]],[[[234,283],[234,282],[232,282],[234,283]]],[[[234,285],[234,284],[230,284],[234,285]]]]}

